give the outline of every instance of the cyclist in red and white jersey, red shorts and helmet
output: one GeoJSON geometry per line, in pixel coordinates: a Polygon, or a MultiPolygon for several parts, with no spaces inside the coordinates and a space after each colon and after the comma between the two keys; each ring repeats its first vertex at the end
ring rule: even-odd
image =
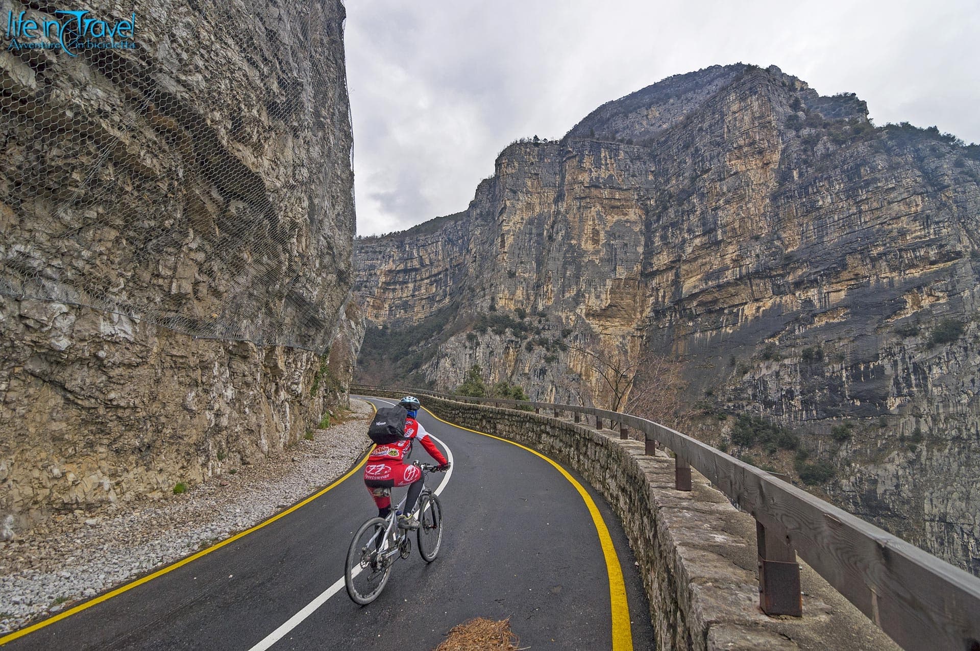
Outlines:
{"type": "Polygon", "coordinates": [[[437,471],[449,470],[449,462],[446,457],[439,452],[432,437],[425,431],[425,427],[418,423],[418,410],[421,404],[418,398],[407,395],[399,403],[405,407],[409,416],[405,420],[405,438],[394,443],[378,444],[368,455],[368,465],[365,466],[365,484],[368,492],[377,505],[377,515],[379,518],[387,518],[391,513],[391,491],[385,488],[393,486],[408,486],[409,494],[405,500],[405,513],[398,517],[398,526],[405,529],[417,529],[418,521],[411,517],[416,510],[418,495],[422,492],[422,472],[417,466],[405,463],[405,458],[412,451],[412,442],[418,440],[439,464],[437,471]],[[387,493],[387,494],[385,494],[387,493]]]}

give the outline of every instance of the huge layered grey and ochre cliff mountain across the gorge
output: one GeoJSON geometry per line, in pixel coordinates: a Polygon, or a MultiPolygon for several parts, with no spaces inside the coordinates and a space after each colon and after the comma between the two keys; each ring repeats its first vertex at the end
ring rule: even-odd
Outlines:
{"type": "Polygon", "coordinates": [[[866,115],[738,65],[515,143],[466,212],[357,241],[362,359],[606,406],[583,350],[676,356],[690,403],[794,428],[823,494],[977,573],[980,156],[866,115]]]}

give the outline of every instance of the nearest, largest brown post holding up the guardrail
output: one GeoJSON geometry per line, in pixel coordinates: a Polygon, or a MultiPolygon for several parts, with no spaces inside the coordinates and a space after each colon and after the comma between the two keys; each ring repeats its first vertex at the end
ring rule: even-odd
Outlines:
{"type": "Polygon", "coordinates": [[[766,615],[803,617],[800,594],[800,564],[796,551],[782,536],[775,535],[757,520],[759,548],[759,606],[766,615]]]}

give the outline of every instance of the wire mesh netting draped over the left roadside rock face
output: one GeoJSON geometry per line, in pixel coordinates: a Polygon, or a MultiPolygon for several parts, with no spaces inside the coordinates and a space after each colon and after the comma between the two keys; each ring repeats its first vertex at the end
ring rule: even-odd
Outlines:
{"type": "Polygon", "coordinates": [[[325,348],[354,225],[339,0],[0,21],[0,293],[325,348]]]}

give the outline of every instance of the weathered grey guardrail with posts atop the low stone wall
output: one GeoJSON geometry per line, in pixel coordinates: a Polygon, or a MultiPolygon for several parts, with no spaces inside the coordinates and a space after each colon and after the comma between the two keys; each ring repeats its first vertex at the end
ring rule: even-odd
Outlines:
{"type": "Polygon", "coordinates": [[[647,454],[673,452],[675,486],[691,490],[691,468],[756,519],[760,607],[803,614],[796,555],[904,649],[980,651],[980,578],[696,438],[628,414],[529,400],[470,398],[426,389],[352,385],[352,391],[410,393],[444,400],[591,416],[596,426],[643,432],[647,454]]]}

